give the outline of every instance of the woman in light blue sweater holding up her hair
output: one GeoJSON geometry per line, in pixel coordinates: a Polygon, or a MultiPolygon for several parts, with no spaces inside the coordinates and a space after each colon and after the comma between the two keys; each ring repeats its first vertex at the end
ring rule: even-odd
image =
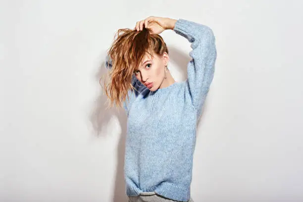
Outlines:
{"type": "Polygon", "coordinates": [[[111,105],[123,103],[128,116],[124,175],[129,202],[193,202],[197,121],[216,55],[212,30],[189,20],[150,16],[134,30],[118,30],[106,56],[111,80],[105,93],[111,105]],[[168,49],[159,34],[168,29],[188,39],[193,49],[183,82],[175,82],[167,69],[168,49]]]}

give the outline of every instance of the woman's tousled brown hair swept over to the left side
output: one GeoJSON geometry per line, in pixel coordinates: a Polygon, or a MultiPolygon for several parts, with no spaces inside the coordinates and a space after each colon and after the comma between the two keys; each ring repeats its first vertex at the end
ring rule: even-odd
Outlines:
{"type": "Polygon", "coordinates": [[[132,74],[138,70],[139,64],[148,53],[153,58],[153,53],[162,56],[164,52],[168,54],[168,48],[163,38],[152,33],[149,28],[142,31],[128,28],[119,29],[114,38],[117,37],[110,48],[107,56],[112,60],[111,68],[108,71],[110,78],[105,86],[105,94],[110,101],[110,107],[121,106],[128,98],[128,90],[136,90],[132,85],[132,74]]]}

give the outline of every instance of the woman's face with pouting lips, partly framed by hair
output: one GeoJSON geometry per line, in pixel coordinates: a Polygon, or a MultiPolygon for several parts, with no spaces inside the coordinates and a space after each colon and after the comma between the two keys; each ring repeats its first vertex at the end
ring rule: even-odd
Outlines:
{"type": "Polygon", "coordinates": [[[156,91],[161,87],[165,76],[165,66],[169,61],[169,56],[166,52],[162,56],[153,53],[153,58],[150,54],[146,54],[139,65],[138,70],[135,70],[137,79],[147,86],[150,91],[156,91]]]}

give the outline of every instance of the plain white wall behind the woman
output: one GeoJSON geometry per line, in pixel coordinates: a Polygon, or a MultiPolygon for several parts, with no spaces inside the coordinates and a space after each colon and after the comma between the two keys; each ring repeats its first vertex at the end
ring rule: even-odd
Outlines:
{"type": "MultiPolygon", "coordinates": [[[[126,115],[104,110],[99,78],[114,32],[150,15],[216,36],[194,201],[303,201],[302,2],[1,1],[0,201],[126,202],[126,115]]],[[[190,43],[161,36],[185,80],[190,43]]]]}

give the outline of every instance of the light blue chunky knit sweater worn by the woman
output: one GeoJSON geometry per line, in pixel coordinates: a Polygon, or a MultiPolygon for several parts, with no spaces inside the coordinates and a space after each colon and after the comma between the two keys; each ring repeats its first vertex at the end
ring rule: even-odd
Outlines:
{"type": "MultiPolygon", "coordinates": [[[[126,194],[155,192],[175,201],[190,199],[197,121],[214,76],[215,37],[202,24],[178,19],[173,29],[191,43],[188,78],[154,92],[134,75],[138,92],[124,101],[127,134],[124,175],[126,194]]],[[[106,56],[105,66],[111,67],[106,56]]]]}

